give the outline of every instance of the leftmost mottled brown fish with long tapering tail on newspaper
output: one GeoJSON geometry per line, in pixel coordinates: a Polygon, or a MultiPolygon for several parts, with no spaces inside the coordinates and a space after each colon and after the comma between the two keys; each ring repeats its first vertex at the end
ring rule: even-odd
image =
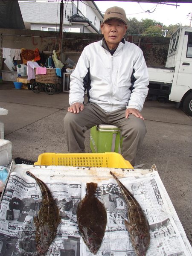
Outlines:
{"type": "Polygon", "coordinates": [[[26,174],[34,178],[41,189],[42,205],[38,216],[34,217],[36,226],[35,238],[38,252],[46,253],[55,238],[58,224],[61,222],[61,216],[47,185],[31,172],[26,171],[26,174]]]}

